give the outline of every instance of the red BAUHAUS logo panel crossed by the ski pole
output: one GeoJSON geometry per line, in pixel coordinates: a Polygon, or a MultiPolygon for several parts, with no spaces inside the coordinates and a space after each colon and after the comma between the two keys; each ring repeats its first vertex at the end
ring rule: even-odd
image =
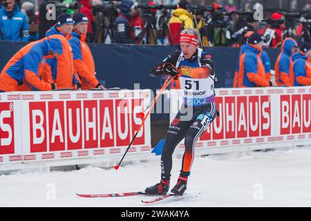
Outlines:
{"type": "MultiPolygon", "coordinates": [[[[142,123],[141,104],[142,99],[29,102],[30,153],[127,146],[142,123]]],[[[133,145],[145,145],[144,126],[133,145]]]]}

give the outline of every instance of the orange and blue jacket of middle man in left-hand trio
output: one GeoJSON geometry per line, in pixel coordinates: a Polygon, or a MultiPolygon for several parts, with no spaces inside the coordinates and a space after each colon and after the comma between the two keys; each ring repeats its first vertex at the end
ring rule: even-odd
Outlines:
{"type": "Polygon", "coordinates": [[[44,81],[57,84],[57,88],[74,88],[73,84],[79,83],[79,77],[73,67],[73,53],[68,42],[71,35],[64,34],[57,24],[46,32],[46,37],[57,36],[62,41],[63,55],[57,58],[44,57],[39,66],[39,74],[44,81]]]}

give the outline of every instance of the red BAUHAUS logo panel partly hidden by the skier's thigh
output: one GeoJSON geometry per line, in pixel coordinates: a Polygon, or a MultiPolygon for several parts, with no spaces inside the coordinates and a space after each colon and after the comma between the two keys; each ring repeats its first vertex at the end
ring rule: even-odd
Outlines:
{"type": "Polygon", "coordinates": [[[214,119],[211,134],[200,140],[223,140],[272,135],[270,95],[216,97],[220,116],[214,119]]]}

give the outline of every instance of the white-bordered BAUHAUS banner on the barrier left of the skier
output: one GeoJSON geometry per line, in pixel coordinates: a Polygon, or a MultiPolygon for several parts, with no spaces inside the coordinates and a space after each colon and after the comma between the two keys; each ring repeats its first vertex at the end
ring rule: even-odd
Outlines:
{"type": "MultiPolygon", "coordinates": [[[[0,169],[8,164],[122,156],[151,90],[0,94],[0,169]]],[[[150,118],[128,155],[151,151],[150,118]]],[[[120,158],[120,157],[117,157],[120,158]]]]}

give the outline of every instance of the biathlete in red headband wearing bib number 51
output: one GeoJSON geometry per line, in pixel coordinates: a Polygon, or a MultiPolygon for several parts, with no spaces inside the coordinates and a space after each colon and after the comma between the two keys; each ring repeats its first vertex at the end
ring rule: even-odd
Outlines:
{"type": "Polygon", "coordinates": [[[198,47],[198,33],[185,29],[180,33],[181,50],[176,50],[150,70],[151,76],[171,75],[182,89],[184,103],[167,130],[162,156],[160,183],[149,186],[147,194],[165,195],[169,191],[172,155],[185,138],[185,153],[178,181],[171,193],[182,195],[194,162],[194,144],[216,117],[214,65],[211,55],[198,47]],[[185,117],[191,115],[191,117],[185,117]]]}

